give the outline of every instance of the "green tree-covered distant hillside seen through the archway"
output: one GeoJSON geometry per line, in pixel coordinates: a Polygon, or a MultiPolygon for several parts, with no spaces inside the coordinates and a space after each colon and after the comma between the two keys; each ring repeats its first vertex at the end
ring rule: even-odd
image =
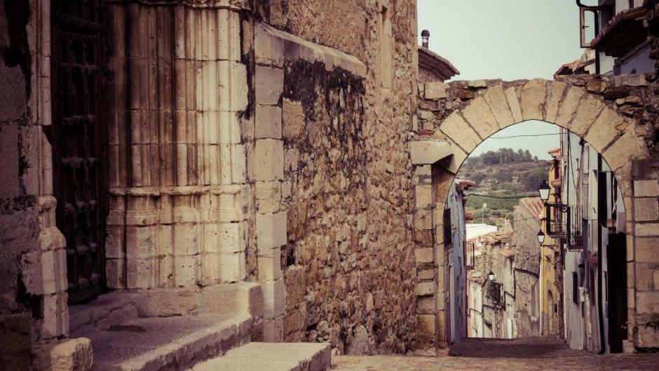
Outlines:
{"type": "Polygon", "coordinates": [[[547,161],[531,157],[529,151],[513,151],[510,148],[488,151],[480,156],[467,158],[458,171],[458,179],[476,182],[476,187],[468,189],[466,209],[475,215],[475,222],[481,222],[483,203],[487,204],[484,222],[501,224],[506,215],[512,220],[512,209],[517,199],[501,199],[477,196],[536,196],[538,185],[547,179],[547,161]]]}

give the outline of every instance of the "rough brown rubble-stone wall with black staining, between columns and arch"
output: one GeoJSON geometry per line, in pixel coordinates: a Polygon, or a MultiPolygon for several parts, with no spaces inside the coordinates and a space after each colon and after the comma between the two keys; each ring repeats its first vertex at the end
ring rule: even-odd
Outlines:
{"type": "MultiPolygon", "coordinates": [[[[405,351],[414,342],[406,137],[415,104],[415,4],[257,1],[255,13],[279,29],[262,43],[257,27],[257,95],[259,70],[282,76],[280,97],[261,103],[257,96],[256,128],[259,104],[281,120],[266,124],[280,129],[257,135],[256,145],[271,140],[276,156],[283,151],[283,173],[262,184],[263,198],[257,194],[257,218],[261,203],[275,198],[262,213],[283,215],[276,225],[287,232],[284,245],[264,247],[274,252],[257,249],[264,266],[266,255],[281,257],[275,270],[282,272],[262,278],[274,297],[285,296],[273,300],[266,332],[330,340],[344,353],[405,351]],[[353,22],[353,36],[344,22],[353,22]],[[269,48],[269,55],[259,51],[269,48]]],[[[247,157],[250,163],[249,150],[247,157]]]]}

